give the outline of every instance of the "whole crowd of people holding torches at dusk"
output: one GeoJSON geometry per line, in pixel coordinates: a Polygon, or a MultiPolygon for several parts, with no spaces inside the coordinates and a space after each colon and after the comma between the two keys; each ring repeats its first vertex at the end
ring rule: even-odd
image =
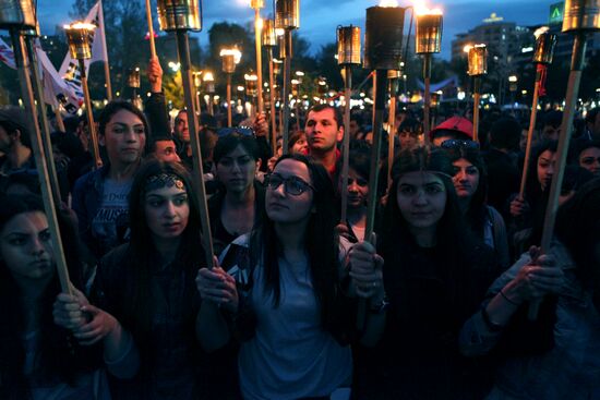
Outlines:
{"type": "Polygon", "coordinates": [[[97,114],[103,167],[86,119],[51,135],[71,294],[31,117],[0,109],[1,399],[600,399],[599,108],[575,121],[542,254],[560,111],[540,116],[524,165],[509,113],[485,112],[475,142],[458,110],[424,137],[403,108],[373,187],[370,110],[345,132],[340,109],[312,106],[273,153],[262,113],[169,121],[161,74],[152,59],[144,112],[97,114]]]}

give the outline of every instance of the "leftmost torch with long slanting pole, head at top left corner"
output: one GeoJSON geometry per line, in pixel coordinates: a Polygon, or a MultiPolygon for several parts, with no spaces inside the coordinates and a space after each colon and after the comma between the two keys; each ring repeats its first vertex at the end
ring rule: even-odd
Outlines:
{"type": "Polygon", "coordinates": [[[31,68],[35,69],[37,65],[29,64],[27,52],[25,50],[25,40],[22,35],[23,29],[36,29],[36,24],[37,22],[34,5],[31,0],[8,1],[3,2],[2,7],[0,7],[0,29],[8,29],[10,32],[14,51],[14,61],[19,74],[19,84],[21,86],[21,96],[23,97],[25,112],[27,116],[31,116],[31,118],[27,119],[27,129],[31,134],[32,149],[34,151],[35,165],[39,178],[41,196],[44,199],[44,210],[46,213],[46,218],[48,219],[52,249],[55,249],[53,253],[57,264],[57,274],[59,276],[62,291],[71,294],[69,270],[67,269],[67,259],[64,257],[56,214],[55,195],[52,194],[52,187],[47,169],[47,166],[51,161],[47,160],[46,157],[51,157],[51,155],[47,155],[45,153],[45,147],[50,146],[50,144],[48,143],[46,146],[43,144],[43,135],[39,130],[32,81],[27,72],[27,70],[31,68]]]}

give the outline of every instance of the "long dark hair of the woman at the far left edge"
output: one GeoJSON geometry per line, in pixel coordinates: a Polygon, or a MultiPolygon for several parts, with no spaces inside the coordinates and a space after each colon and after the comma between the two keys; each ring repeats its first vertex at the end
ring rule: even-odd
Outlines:
{"type": "MultiPolygon", "coordinates": [[[[43,213],[44,203],[34,194],[5,195],[0,199],[0,231],[15,216],[24,213],[43,213]]],[[[67,257],[71,282],[83,289],[83,272],[79,258],[75,227],[67,217],[58,213],[63,250],[67,257]]],[[[71,338],[70,332],[52,320],[52,304],[60,293],[58,275],[49,282],[39,299],[39,347],[36,360],[40,371],[49,379],[59,378],[74,385],[76,375],[92,369],[94,359],[81,356],[82,348],[71,338]],[[79,354],[79,356],[77,356],[79,354]]],[[[0,255],[0,398],[28,398],[27,380],[23,375],[25,364],[25,310],[21,304],[21,289],[0,255]]],[[[86,349],[86,352],[93,349],[86,349]]],[[[96,360],[97,361],[97,360],[96,360]]]]}

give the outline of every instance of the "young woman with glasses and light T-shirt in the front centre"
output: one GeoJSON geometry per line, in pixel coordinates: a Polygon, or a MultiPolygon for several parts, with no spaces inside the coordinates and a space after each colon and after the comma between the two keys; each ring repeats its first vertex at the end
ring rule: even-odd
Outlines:
{"type": "MultiPolygon", "coordinates": [[[[237,241],[247,257],[229,274],[220,267],[199,272],[203,346],[243,338],[244,399],[328,398],[350,385],[351,324],[345,319],[356,312],[343,284],[350,279],[334,232],[333,195],[323,166],[301,155],[281,157],[267,179],[264,218],[237,241]]],[[[360,294],[382,296],[381,272],[359,272],[352,281],[369,287],[360,294]]]]}

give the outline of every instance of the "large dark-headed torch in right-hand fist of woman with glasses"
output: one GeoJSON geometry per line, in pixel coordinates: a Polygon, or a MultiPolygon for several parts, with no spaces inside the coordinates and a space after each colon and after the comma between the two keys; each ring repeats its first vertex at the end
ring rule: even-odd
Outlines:
{"type": "MultiPolygon", "coordinates": [[[[383,114],[387,95],[387,71],[397,70],[403,53],[403,29],[406,9],[396,1],[385,1],[379,7],[367,9],[364,36],[364,66],[374,70],[373,145],[371,147],[371,171],[369,173],[369,199],[364,240],[371,241],[375,225],[377,205],[377,175],[382,141],[383,114]]],[[[374,243],[373,243],[374,244],[374,243]]],[[[357,326],[362,330],[367,305],[360,302],[357,326]]]]}

